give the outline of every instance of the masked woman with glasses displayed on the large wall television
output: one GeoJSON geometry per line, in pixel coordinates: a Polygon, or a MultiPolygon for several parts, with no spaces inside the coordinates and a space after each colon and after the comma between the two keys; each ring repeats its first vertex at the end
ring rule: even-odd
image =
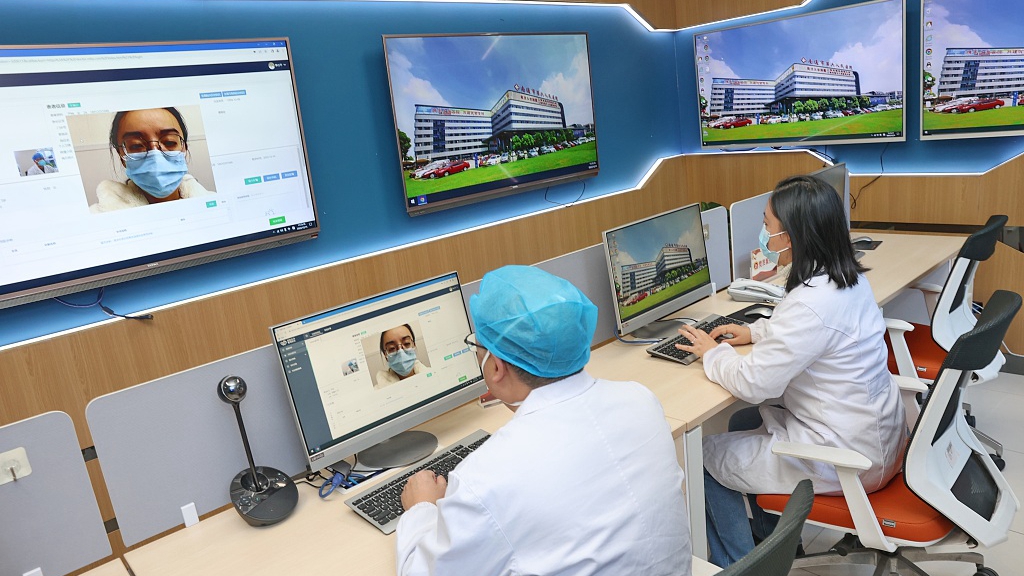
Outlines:
{"type": "Polygon", "coordinates": [[[174,108],[119,112],[111,123],[111,149],[128,179],[96,187],[91,212],[110,212],[213,194],[188,173],[188,128],[174,108]]]}

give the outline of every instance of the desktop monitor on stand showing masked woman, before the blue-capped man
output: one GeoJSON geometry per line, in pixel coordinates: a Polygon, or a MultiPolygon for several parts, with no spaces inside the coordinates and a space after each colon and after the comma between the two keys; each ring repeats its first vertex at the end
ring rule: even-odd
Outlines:
{"type": "Polygon", "coordinates": [[[392,437],[483,393],[470,330],[456,273],[271,327],[310,469],[371,447],[374,467],[430,454],[429,435],[392,437]]]}

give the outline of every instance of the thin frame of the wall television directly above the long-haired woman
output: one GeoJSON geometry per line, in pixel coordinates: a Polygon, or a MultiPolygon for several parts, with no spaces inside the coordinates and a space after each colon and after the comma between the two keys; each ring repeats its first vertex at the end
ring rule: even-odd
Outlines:
{"type": "MultiPolygon", "coordinates": [[[[831,11],[838,11],[838,10],[854,9],[854,8],[859,8],[859,7],[862,7],[862,6],[865,6],[865,5],[869,5],[869,4],[880,4],[880,3],[883,3],[883,2],[892,2],[892,1],[898,1],[900,3],[900,17],[901,17],[900,31],[901,31],[901,34],[902,34],[902,42],[901,42],[901,44],[902,44],[902,54],[901,54],[901,57],[902,57],[903,74],[901,75],[900,80],[901,80],[901,91],[903,93],[903,106],[900,108],[900,116],[902,118],[902,129],[900,130],[900,134],[899,135],[894,135],[894,136],[867,136],[867,135],[860,136],[860,135],[858,135],[856,137],[851,137],[851,138],[821,137],[821,138],[797,138],[797,139],[774,139],[774,140],[773,139],[755,139],[755,140],[750,140],[750,141],[706,143],[705,139],[703,139],[703,134],[702,134],[702,131],[705,129],[703,120],[700,117],[699,99],[697,99],[696,100],[697,101],[697,106],[695,106],[695,109],[696,109],[696,120],[697,120],[697,138],[698,138],[698,141],[700,142],[700,150],[753,150],[753,149],[758,149],[758,148],[782,148],[782,147],[812,148],[812,147],[817,147],[817,146],[830,146],[830,145],[890,143],[890,142],[902,142],[902,141],[906,141],[906,84],[907,84],[907,82],[906,82],[906,73],[907,73],[907,68],[906,68],[906,49],[907,49],[906,2],[907,2],[907,0],[870,0],[868,2],[859,2],[857,4],[852,4],[852,5],[847,5],[847,6],[837,6],[837,7],[833,7],[833,8],[825,8],[825,9],[822,9],[822,10],[814,10],[814,11],[811,11],[811,12],[805,12],[805,13],[800,13],[800,14],[783,15],[783,16],[779,16],[779,17],[776,17],[776,18],[762,20],[762,22],[757,22],[757,23],[752,23],[752,24],[729,26],[729,27],[723,27],[723,28],[718,28],[718,29],[714,29],[714,30],[705,30],[705,31],[701,31],[701,32],[695,32],[695,33],[693,33],[693,36],[691,38],[692,42],[690,43],[691,47],[693,48],[693,52],[690,55],[690,65],[692,66],[692,71],[694,73],[694,82],[695,82],[695,86],[694,87],[695,87],[695,90],[696,90],[696,92],[695,92],[694,95],[697,98],[699,98],[700,71],[699,71],[699,69],[697,67],[697,64],[696,64],[696,37],[697,36],[702,35],[702,34],[711,34],[711,33],[724,32],[724,31],[727,31],[727,30],[737,30],[737,29],[741,29],[741,28],[752,28],[752,27],[757,27],[757,26],[766,25],[766,24],[773,24],[773,23],[778,23],[778,22],[783,22],[783,20],[790,20],[790,19],[796,19],[796,18],[801,18],[801,17],[813,16],[813,15],[816,15],[816,14],[822,14],[822,13],[825,13],[825,12],[831,12],[831,11]]],[[[924,1],[924,0],[922,0],[922,1],[924,1]]],[[[709,97],[710,96],[711,96],[711,94],[709,92],[709,97]]]]}

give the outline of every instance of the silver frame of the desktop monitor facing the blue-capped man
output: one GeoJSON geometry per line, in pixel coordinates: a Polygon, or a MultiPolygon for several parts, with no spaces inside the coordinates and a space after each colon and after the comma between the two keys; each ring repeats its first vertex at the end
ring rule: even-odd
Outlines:
{"type": "MultiPolygon", "coordinates": [[[[437,398],[433,401],[430,401],[423,406],[413,408],[412,410],[410,410],[404,414],[395,416],[389,419],[387,422],[373,426],[372,428],[359,433],[357,435],[354,435],[350,438],[344,440],[333,439],[331,444],[323,447],[321,450],[316,452],[310,453],[310,444],[309,441],[306,439],[305,430],[302,427],[302,420],[299,416],[299,411],[296,408],[295,397],[292,393],[292,384],[289,381],[287,371],[285,370],[284,359],[281,357],[281,348],[278,345],[279,340],[276,335],[274,334],[274,331],[279,328],[288,326],[290,324],[314,318],[323,314],[339,311],[345,307],[365,304],[372,300],[376,300],[390,294],[407,291],[417,286],[442,282],[450,278],[455,279],[456,286],[459,289],[459,295],[461,297],[460,299],[462,300],[463,312],[466,315],[467,335],[468,335],[473,330],[472,319],[469,316],[469,308],[466,305],[466,297],[463,292],[462,283],[459,281],[459,274],[455,271],[434,276],[418,282],[412,282],[404,286],[400,286],[390,290],[384,290],[382,292],[378,292],[376,294],[366,296],[362,298],[356,298],[349,302],[345,302],[336,306],[331,306],[329,308],[325,308],[319,312],[303,315],[298,318],[289,320],[288,322],[282,322],[280,324],[275,324],[270,327],[269,329],[270,345],[275,348],[274,356],[278,358],[278,365],[281,368],[281,376],[284,380],[286,392],[288,395],[289,408],[291,410],[292,417],[296,425],[296,429],[298,429],[299,431],[299,438],[302,440],[302,448],[306,458],[306,465],[309,467],[310,470],[322,469],[327,465],[348,458],[353,454],[356,454],[358,452],[361,452],[362,450],[376,446],[381,442],[393,438],[406,430],[412,429],[426,422],[427,420],[430,420],[431,418],[435,418],[437,416],[440,416],[441,414],[451,412],[452,410],[455,410],[456,408],[459,408],[464,404],[472,402],[478,399],[480,395],[486,392],[487,389],[486,383],[483,380],[483,374],[481,371],[479,375],[471,377],[469,379],[470,380],[469,383],[463,385],[459,389],[450,392],[449,394],[445,394],[441,398],[437,398]]],[[[477,368],[479,369],[479,366],[477,366],[477,368]]]]}

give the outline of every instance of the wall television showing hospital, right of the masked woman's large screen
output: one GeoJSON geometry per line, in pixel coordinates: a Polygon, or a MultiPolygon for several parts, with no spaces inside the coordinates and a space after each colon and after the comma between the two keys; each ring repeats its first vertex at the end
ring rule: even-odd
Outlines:
{"type": "Polygon", "coordinates": [[[587,35],[384,36],[410,215],[598,172],[587,35]]]}

